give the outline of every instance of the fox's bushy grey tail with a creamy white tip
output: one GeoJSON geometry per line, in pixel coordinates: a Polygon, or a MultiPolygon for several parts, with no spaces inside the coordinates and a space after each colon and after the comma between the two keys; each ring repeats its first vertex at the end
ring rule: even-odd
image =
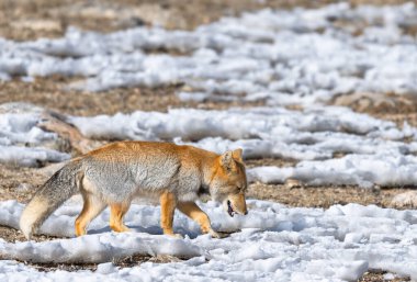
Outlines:
{"type": "Polygon", "coordinates": [[[35,193],[20,217],[20,228],[27,239],[56,208],[77,193],[81,178],[81,160],[72,160],[35,193]]]}

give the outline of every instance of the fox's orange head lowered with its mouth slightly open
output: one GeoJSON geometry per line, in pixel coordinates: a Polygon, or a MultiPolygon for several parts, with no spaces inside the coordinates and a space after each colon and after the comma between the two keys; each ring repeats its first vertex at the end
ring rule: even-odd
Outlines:
{"type": "Polygon", "coordinates": [[[245,199],[248,183],[241,153],[241,149],[236,149],[219,156],[210,184],[213,200],[223,202],[230,216],[248,213],[245,199]]]}

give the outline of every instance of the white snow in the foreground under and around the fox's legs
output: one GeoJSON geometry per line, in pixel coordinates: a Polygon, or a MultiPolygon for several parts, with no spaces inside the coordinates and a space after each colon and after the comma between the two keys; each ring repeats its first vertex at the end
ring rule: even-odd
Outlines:
{"type": "MultiPolygon", "coordinates": [[[[417,212],[357,204],[335,205],[326,211],[288,208],[262,201],[248,204],[247,216],[232,218],[213,202],[200,203],[216,229],[235,232],[225,239],[199,235],[196,224],[181,214],[176,215],[174,228],[185,239],[166,237],[160,235],[159,207],[133,205],[126,224],[134,233],[110,233],[105,211],[92,223],[91,234],[80,238],[15,244],[0,240],[0,255],[4,258],[46,263],[102,263],[95,272],[45,273],[18,262],[0,261],[0,279],[353,281],[368,269],[384,269],[417,279],[417,212]],[[124,269],[110,262],[132,253],[168,253],[192,259],[124,269]]],[[[42,232],[72,235],[80,207],[79,204],[60,207],[42,232]]],[[[1,202],[0,224],[15,227],[21,210],[22,205],[14,201],[1,202]]]]}

